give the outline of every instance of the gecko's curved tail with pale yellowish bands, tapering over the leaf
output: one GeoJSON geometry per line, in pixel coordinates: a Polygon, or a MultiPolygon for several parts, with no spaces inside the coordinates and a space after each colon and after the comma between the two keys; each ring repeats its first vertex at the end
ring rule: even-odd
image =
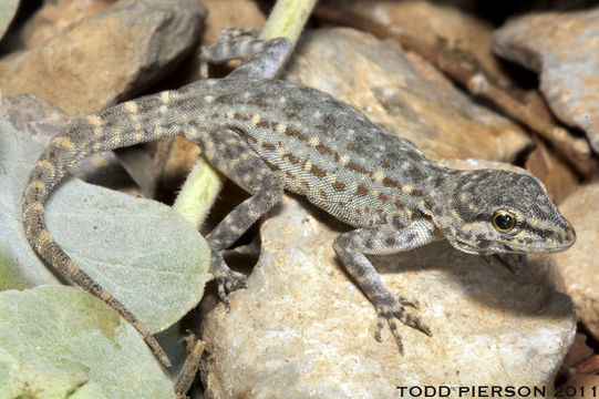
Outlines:
{"type": "MultiPolygon", "coordinates": [[[[56,244],[44,221],[44,203],[52,188],[64,177],[70,167],[86,155],[148,142],[156,139],[161,126],[144,123],[147,110],[161,102],[161,94],[149,95],[138,102],[127,102],[106,111],[84,116],[54,137],[50,146],[40,155],[29,175],[22,197],[22,217],[27,238],[40,256],[50,263],[74,284],[102,299],[117,310],[144,337],[147,345],[161,361],[169,367],[171,361],[163,348],[147,328],[123,304],[96,284],[56,244]],[[144,126],[146,130],[144,131],[144,126]]],[[[167,122],[167,121],[166,121],[167,122]]],[[[161,137],[175,135],[159,132],[161,137]]]]}

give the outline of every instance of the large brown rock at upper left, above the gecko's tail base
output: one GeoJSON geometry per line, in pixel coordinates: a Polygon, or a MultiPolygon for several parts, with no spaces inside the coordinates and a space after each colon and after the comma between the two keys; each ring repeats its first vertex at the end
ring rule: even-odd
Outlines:
{"type": "Polygon", "coordinates": [[[135,96],[196,45],[194,0],[120,1],[43,45],[0,62],[3,95],[32,93],[69,114],[135,96]]]}

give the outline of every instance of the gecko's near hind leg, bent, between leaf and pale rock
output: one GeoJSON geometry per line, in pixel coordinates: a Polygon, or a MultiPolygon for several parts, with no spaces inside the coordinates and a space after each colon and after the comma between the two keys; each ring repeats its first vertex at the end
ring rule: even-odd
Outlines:
{"type": "Polygon", "coordinates": [[[281,201],[283,185],[280,176],[234,130],[225,127],[208,133],[200,144],[206,150],[203,155],[214,167],[251,194],[251,197],[233,209],[206,237],[213,255],[210,272],[218,285],[218,296],[228,309],[227,294],[245,287],[246,276],[231,270],[220,252],[231,246],[281,201]]]}

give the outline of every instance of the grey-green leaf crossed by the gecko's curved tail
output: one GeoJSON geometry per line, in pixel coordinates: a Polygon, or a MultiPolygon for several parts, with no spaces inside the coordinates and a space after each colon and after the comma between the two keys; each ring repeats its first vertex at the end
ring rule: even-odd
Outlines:
{"type": "MultiPolygon", "coordinates": [[[[0,289],[58,284],[25,239],[21,195],[41,149],[0,119],[0,289]]],[[[209,249],[171,207],[66,177],[45,212],[56,242],[153,332],[203,296],[209,249]]]]}

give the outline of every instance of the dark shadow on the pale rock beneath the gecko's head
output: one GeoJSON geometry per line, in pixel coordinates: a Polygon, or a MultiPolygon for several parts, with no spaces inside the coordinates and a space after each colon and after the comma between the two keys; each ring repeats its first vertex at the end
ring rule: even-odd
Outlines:
{"type": "MultiPolygon", "coordinates": [[[[370,256],[379,273],[441,270],[461,291],[486,307],[519,316],[564,318],[574,314],[569,296],[548,256],[526,256],[518,275],[499,262],[465,254],[448,243],[433,243],[390,256],[370,256]]],[[[424,298],[423,298],[424,299],[424,298]]]]}

